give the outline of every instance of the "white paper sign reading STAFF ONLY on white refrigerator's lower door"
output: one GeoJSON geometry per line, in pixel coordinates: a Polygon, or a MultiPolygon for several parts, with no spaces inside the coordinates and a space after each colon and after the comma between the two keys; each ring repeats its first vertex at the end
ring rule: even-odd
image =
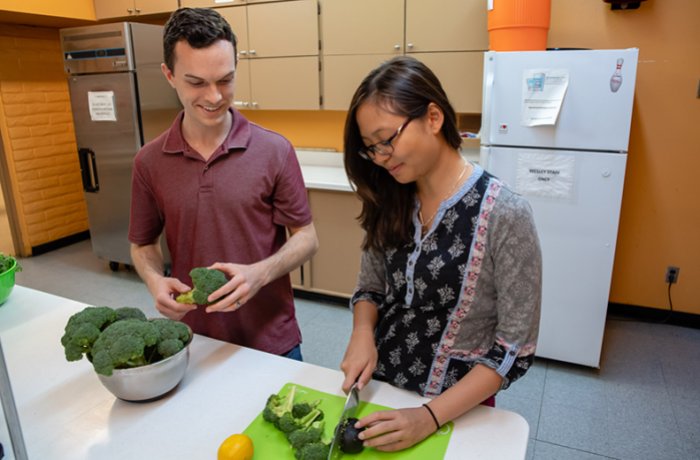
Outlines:
{"type": "Polygon", "coordinates": [[[556,153],[521,153],[516,190],[526,196],[568,200],[573,197],[575,159],[556,153]]]}

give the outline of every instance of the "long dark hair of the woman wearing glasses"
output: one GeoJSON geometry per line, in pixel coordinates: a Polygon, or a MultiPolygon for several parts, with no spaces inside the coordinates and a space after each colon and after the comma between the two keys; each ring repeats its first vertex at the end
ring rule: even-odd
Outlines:
{"type": "Polygon", "coordinates": [[[459,149],[462,138],[457,128],[457,115],[440,81],[420,61],[397,56],[362,80],[345,120],[345,171],[362,201],[358,220],[366,232],[363,248],[382,250],[412,239],[416,185],[397,182],[384,168],[358,154],[365,145],[356,116],[357,109],[365,102],[376,103],[391,113],[411,119],[425,115],[432,102],[444,114],[441,133],[448,145],[459,149]]]}

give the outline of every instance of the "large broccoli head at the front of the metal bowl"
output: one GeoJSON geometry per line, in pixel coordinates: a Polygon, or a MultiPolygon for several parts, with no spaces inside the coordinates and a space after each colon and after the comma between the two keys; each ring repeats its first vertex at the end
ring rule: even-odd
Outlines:
{"type": "Polygon", "coordinates": [[[112,375],[114,369],[148,364],[146,348],[158,343],[158,329],[148,321],[124,319],[110,324],[92,346],[95,372],[112,375]]]}

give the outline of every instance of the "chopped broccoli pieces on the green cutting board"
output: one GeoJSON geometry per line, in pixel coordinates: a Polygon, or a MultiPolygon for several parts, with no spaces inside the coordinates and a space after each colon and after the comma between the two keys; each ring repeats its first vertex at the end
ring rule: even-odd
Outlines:
{"type": "Polygon", "coordinates": [[[270,395],[263,409],[263,419],[287,437],[299,460],[326,459],[329,443],[323,439],[324,414],[314,402],[294,402],[296,387],[284,396],[270,395]]]}

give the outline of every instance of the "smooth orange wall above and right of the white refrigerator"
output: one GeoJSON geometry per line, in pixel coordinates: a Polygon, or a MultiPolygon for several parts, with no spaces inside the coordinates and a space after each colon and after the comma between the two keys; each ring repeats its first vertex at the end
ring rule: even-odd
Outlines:
{"type": "Polygon", "coordinates": [[[700,314],[700,2],[552,1],[549,46],[639,48],[611,302],[700,314]],[[585,19],[584,19],[585,18],[585,19]]]}

